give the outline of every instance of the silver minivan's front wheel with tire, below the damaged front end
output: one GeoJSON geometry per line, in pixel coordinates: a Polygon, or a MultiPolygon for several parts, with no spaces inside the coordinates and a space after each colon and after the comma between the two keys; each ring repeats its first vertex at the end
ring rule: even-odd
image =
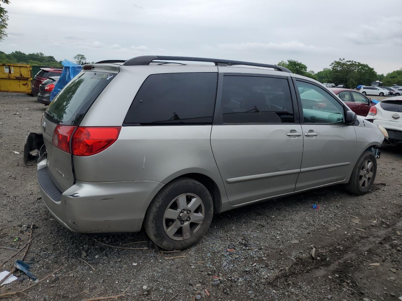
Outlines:
{"type": "Polygon", "coordinates": [[[347,192],[354,195],[367,193],[373,186],[376,173],[377,159],[371,151],[366,150],[357,160],[349,183],[345,185],[347,192]]]}

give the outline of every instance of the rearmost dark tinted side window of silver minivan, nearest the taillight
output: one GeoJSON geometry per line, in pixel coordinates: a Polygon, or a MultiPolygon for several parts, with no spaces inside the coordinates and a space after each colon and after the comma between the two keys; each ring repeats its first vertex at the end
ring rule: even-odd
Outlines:
{"type": "Polygon", "coordinates": [[[211,124],[217,73],[150,75],[142,84],[127,124],[211,124]]]}

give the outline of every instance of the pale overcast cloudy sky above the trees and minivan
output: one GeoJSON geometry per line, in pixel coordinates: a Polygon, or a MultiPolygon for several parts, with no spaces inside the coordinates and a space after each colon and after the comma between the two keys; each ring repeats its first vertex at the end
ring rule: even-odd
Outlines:
{"type": "Polygon", "coordinates": [[[57,60],[213,57],[315,72],[339,58],[402,68],[402,0],[10,0],[6,53],[57,60]]]}

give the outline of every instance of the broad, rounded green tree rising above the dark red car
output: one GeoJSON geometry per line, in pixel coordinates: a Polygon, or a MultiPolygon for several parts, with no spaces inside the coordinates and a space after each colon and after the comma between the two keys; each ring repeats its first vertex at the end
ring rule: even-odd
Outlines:
{"type": "Polygon", "coordinates": [[[372,81],[377,80],[377,73],[373,68],[357,61],[339,59],[330,66],[331,79],[336,85],[343,84],[347,87],[356,87],[357,85],[371,85],[372,81]]]}

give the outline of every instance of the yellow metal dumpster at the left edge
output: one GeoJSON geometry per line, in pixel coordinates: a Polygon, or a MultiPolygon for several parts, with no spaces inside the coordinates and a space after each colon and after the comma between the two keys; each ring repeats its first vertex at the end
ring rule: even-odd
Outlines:
{"type": "Polygon", "coordinates": [[[0,92],[31,93],[31,65],[0,64],[0,92]]]}

